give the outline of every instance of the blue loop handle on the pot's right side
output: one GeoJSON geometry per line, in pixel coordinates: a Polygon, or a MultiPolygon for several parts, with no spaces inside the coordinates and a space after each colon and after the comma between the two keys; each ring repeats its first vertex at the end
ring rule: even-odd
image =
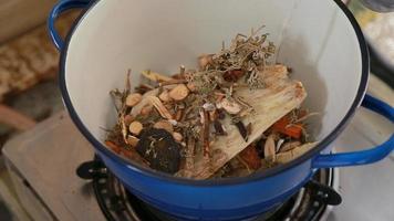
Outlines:
{"type": "MultiPolygon", "coordinates": [[[[371,96],[365,95],[362,106],[369,108],[377,114],[386,117],[392,123],[394,123],[394,108],[388,104],[371,96]]],[[[354,152],[342,152],[342,154],[329,154],[319,155],[314,158],[312,162],[313,168],[333,168],[333,167],[349,167],[349,166],[360,166],[376,162],[394,149],[394,134],[391,135],[390,139],[380,146],[374,148],[354,151],[354,152]]]]}

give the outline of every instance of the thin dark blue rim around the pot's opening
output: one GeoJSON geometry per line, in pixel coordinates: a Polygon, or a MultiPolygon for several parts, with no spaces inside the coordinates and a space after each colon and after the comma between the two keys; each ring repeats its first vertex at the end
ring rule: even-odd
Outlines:
{"type": "Polygon", "coordinates": [[[276,175],[279,175],[280,172],[290,170],[293,167],[297,167],[307,160],[312,159],[312,157],[319,155],[330,143],[332,143],[340,134],[341,131],[345,128],[350,119],[353,117],[356,108],[360,106],[366,91],[366,85],[367,85],[367,80],[369,80],[369,72],[370,72],[370,55],[369,55],[369,50],[367,45],[364,39],[364,35],[361,31],[361,28],[359,23],[356,22],[355,18],[353,17],[352,12],[346,8],[346,6],[341,1],[341,0],[334,0],[336,6],[342,10],[342,12],[346,15],[348,20],[351,22],[353,30],[357,36],[359,40],[359,46],[361,51],[361,59],[362,59],[362,75],[361,75],[361,81],[357,90],[357,94],[348,110],[346,115],[344,118],[338,124],[338,126],[324,138],[322,139],[317,147],[313,149],[309,150],[301,157],[284,164],[280,165],[270,169],[267,169],[263,172],[256,172],[252,175],[249,175],[247,177],[238,177],[238,178],[225,178],[225,179],[218,179],[218,180],[193,180],[193,179],[186,179],[186,178],[179,178],[179,177],[174,177],[172,175],[167,175],[160,171],[153,170],[151,168],[144,168],[139,166],[138,164],[135,164],[133,161],[126,160],[123,157],[116,155],[108,148],[106,148],[100,140],[97,140],[91,133],[90,130],[85,127],[85,125],[82,123],[81,118],[79,117],[76,110],[74,109],[71,97],[68,92],[66,87],[66,81],[65,81],[65,63],[66,63],[66,55],[69,51],[69,44],[71,41],[71,38],[73,36],[73,33],[77,29],[77,27],[81,24],[82,20],[89,14],[89,12],[96,6],[98,0],[92,0],[86,9],[84,9],[81,13],[81,15],[75,20],[73,23],[66,39],[64,42],[64,48],[61,50],[61,56],[60,56],[60,73],[59,73],[59,85],[60,85],[60,91],[62,93],[63,102],[64,105],[69,112],[69,115],[73,123],[76,125],[76,127],[80,129],[80,131],[84,135],[84,137],[102,154],[104,154],[106,157],[108,157],[112,160],[115,160],[124,166],[131,166],[136,172],[139,172],[144,176],[147,176],[149,178],[154,179],[159,179],[162,181],[169,181],[169,182],[175,182],[179,185],[188,185],[188,186],[228,186],[228,185],[241,185],[250,181],[257,181],[261,180],[265,178],[273,177],[276,175]]]}

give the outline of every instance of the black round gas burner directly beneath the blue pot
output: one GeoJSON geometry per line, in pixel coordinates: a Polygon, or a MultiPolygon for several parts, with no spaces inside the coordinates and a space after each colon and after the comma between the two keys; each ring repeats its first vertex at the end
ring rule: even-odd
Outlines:
{"type": "MultiPolygon", "coordinates": [[[[82,164],[76,173],[83,179],[92,179],[98,206],[108,221],[175,220],[129,193],[97,158],[82,164]]],[[[333,173],[333,169],[319,170],[311,181],[281,207],[257,217],[253,221],[320,220],[328,206],[341,203],[341,196],[332,189],[333,173]]]]}

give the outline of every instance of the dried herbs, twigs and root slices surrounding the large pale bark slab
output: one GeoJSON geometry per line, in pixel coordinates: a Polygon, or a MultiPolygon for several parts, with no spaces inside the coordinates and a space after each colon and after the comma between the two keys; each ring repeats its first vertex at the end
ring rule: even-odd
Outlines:
{"type": "Polygon", "coordinates": [[[282,64],[268,62],[276,46],[267,41],[268,34],[259,34],[261,29],[248,36],[237,34],[229,48],[222,44],[218,53],[199,56],[197,70],[180,66],[172,76],[144,71],[148,83],[139,84],[134,92],[129,72],[125,90],[111,92],[117,123],[108,131],[106,146],[145,167],[196,179],[195,170],[215,164],[220,154],[212,148],[218,137],[229,136],[234,128],[245,144],[250,144],[236,157],[226,158],[220,169],[210,169],[207,175],[211,178],[261,171],[312,148],[304,123],[312,114],[298,107],[287,110],[258,139],[249,140],[256,128],[246,118],[259,109],[239,92],[280,91],[283,86],[276,85],[274,77],[287,78],[290,72],[282,64]],[[226,127],[228,119],[231,125],[226,127]],[[199,159],[208,164],[200,166],[199,159]]]}

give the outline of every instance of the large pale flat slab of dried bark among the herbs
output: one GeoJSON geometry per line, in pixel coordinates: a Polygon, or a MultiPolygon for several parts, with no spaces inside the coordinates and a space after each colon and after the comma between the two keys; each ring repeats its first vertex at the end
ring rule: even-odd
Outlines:
{"type": "MultiPolygon", "coordinates": [[[[263,80],[265,81],[265,80],[263,80]]],[[[289,112],[300,106],[307,97],[307,92],[301,82],[273,75],[270,81],[274,84],[250,91],[249,88],[237,90],[237,96],[241,96],[248,104],[253,106],[253,114],[242,118],[246,124],[252,123],[252,131],[248,141],[239,136],[238,129],[232,125],[229,117],[221,120],[227,128],[227,136],[216,137],[211,151],[221,150],[222,157],[218,160],[205,162],[203,158],[196,158],[196,169],[191,178],[207,179],[220,169],[228,160],[236,157],[241,150],[258,139],[263,131],[289,112]]],[[[263,82],[266,83],[266,82],[263,82]]],[[[182,172],[179,172],[180,175],[182,172]]]]}

